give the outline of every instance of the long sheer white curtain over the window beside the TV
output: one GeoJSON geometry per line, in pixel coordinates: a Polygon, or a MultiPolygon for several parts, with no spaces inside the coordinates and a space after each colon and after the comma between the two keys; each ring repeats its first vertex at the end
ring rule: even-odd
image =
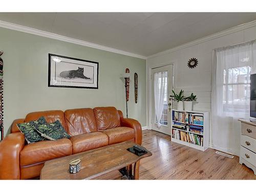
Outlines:
{"type": "Polygon", "coordinates": [[[215,49],[212,58],[212,144],[217,150],[239,155],[238,119],[249,118],[249,83],[250,74],[256,73],[256,42],[215,49]]]}

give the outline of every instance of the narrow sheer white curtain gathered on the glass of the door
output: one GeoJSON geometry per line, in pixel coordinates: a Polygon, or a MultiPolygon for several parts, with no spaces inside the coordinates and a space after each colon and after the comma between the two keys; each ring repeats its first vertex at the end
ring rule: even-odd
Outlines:
{"type": "Polygon", "coordinates": [[[155,98],[155,115],[157,118],[157,127],[160,127],[160,120],[163,113],[164,105],[164,88],[166,86],[165,77],[167,71],[158,72],[154,75],[154,98],[155,98]]]}

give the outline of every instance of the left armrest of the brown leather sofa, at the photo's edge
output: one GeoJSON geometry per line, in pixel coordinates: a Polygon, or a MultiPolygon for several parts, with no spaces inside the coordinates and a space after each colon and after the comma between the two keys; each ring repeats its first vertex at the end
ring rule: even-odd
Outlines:
{"type": "Polygon", "coordinates": [[[22,133],[11,133],[0,143],[0,179],[20,179],[19,154],[25,145],[22,133]]]}

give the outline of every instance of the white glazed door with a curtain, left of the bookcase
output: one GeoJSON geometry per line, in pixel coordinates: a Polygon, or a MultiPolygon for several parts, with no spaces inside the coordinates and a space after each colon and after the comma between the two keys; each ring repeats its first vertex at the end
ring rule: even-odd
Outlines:
{"type": "Polygon", "coordinates": [[[152,130],[170,135],[173,106],[173,99],[170,97],[173,90],[173,65],[154,68],[151,70],[151,74],[152,130]],[[163,106],[159,107],[161,104],[163,106]],[[161,111],[162,113],[160,113],[161,111]]]}

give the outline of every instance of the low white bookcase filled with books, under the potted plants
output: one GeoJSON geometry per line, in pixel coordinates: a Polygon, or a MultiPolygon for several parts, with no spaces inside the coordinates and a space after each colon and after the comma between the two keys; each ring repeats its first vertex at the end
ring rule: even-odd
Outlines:
{"type": "Polygon", "coordinates": [[[172,110],[172,126],[171,126],[172,130],[171,130],[171,139],[173,142],[176,142],[176,143],[180,143],[180,144],[183,144],[183,145],[186,145],[186,146],[189,146],[189,147],[193,147],[193,148],[196,148],[197,150],[201,150],[201,151],[205,151],[208,147],[209,147],[209,112],[204,112],[204,111],[182,111],[182,110],[172,110]],[[201,114],[203,116],[203,125],[200,125],[203,127],[203,134],[199,134],[199,133],[195,133],[195,132],[191,132],[190,130],[181,130],[181,129],[177,129],[177,128],[174,128],[173,125],[175,122],[178,122],[178,123],[181,123],[181,124],[184,124],[184,125],[198,125],[198,124],[192,124],[192,123],[187,123],[187,122],[181,122],[181,121],[176,121],[174,120],[174,112],[181,112],[181,113],[184,113],[184,114],[201,114]],[[195,135],[199,135],[200,137],[203,137],[203,146],[201,145],[198,145],[198,144],[194,144],[194,143],[190,143],[188,141],[182,141],[182,140],[179,140],[179,139],[175,139],[173,138],[173,130],[179,130],[179,131],[182,131],[182,132],[186,132],[186,133],[189,133],[189,134],[195,134],[195,135]]]}

